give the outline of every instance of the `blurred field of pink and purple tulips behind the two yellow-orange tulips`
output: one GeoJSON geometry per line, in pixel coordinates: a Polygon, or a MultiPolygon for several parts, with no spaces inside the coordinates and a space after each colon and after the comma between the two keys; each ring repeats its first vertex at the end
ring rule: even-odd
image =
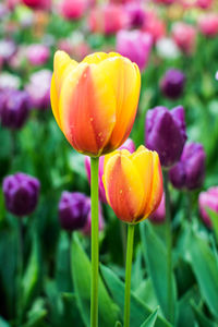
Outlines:
{"type": "MultiPolygon", "coordinates": [[[[169,171],[174,320],[166,315],[164,195],[136,229],[130,326],[158,305],[154,326],[217,326],[217,0],[1,0],[0,327],[89,326],[90,164],[51,112],[57,49],[76,61],[117,51],[137,63],[138,110],[121,148],[157,150],[169,171]]],[[[104,160],[99,326],[113,327],[126,227],[107,204],[104,160]]]]}

